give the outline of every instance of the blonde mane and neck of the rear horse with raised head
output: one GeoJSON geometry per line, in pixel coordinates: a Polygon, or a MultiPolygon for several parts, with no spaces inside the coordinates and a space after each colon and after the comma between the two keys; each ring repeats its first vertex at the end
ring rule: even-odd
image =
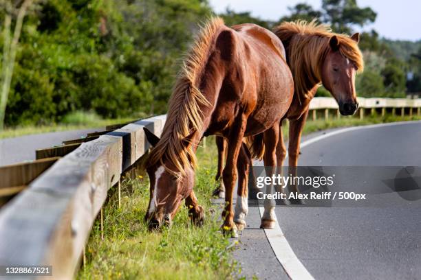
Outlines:
{"type": "Polygon", "coordinates": [[[274,33],[285,45],[299,100],[307,98],[314,84],[321,82],[321,64],[330,49],[329,41],[332,36],[338,38],[341,54],[354,62],[358,71],[364,69],[363,54],[357,43],[345,34],[333,33],[329,25],[317,24],[315,20],[310,23],[284,22],[274,28],[274,33]]]}

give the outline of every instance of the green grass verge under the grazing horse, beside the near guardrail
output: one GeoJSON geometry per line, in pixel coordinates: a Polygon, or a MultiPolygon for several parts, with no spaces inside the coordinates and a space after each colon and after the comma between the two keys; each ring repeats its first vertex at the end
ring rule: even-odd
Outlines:
{"type": "Polygon", "coordinates": [[[171,229],[149,232],[143,221],[149,202],[147,178],[125,178],[121,207],[111,190],[104,207],[104,236],[96,221],[86,247],[87,264],[78,279],[229,279],[238,266],[230,258],[233,247],[219,231],[218,207],[212,205],[211,190],[216,172],[216,147],[208,139],[199,148],[195,194],[206,209],[206,222],[197,228],[188,220],[187,209],[177,213],[171,229]]]}

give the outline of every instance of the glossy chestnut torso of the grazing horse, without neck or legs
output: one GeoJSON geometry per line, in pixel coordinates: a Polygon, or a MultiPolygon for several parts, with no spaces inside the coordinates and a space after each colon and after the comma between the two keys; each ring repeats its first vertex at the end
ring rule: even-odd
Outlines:
{"type": "Polygon", "coordinates": [[[248,116],[246,135],[279,121],[290,106],[294,87],[281,40],[258,25],[224,26],[214,50],[209,65],[216,66],[215,73],[224,71],[224,78],[207,133],[228,131],[231,115],[239,112],[248,116]]]}

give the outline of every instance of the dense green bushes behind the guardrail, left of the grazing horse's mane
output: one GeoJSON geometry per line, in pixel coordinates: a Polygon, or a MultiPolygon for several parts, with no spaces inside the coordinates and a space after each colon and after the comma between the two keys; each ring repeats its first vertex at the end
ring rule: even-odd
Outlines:
{"type": "Polygon", "coordinates": [[[75,111],[164,113],[177,60],[208,14],[200,0],[41,1],[23,25],[6,125],[67,121],[75,111]]]}

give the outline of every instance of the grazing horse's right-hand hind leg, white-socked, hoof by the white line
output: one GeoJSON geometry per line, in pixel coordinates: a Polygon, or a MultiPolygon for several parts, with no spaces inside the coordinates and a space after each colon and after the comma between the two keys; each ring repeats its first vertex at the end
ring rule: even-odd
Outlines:
{"type": "MultiPolygon", "coordinates": [[[[265,164],[266,176],[272,177],[277,165],[276,148],[279,140],[279,123],[266,130],[263,134],[265,141],[265,154],[263,162],[265,164]]],[[[272,184],[266,186],[266,193],[272,194],[272,184]]],[[[262,229],[273,229],[277,223],[277,216],[274,213],[275,202],[273,199],[265,199],[263,202],[265,210],[261,217],[260,227],[262,229]]]]}

